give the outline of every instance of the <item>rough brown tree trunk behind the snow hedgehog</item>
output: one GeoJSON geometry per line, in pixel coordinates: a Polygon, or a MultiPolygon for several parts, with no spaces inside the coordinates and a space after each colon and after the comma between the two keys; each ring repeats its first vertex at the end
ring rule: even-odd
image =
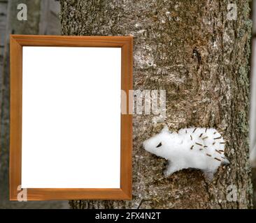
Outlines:
{"type": "Polygon", "coordinates": [[[141,144],[159,132],[152,116],[134,115],[132,201],[70,201],[71,208],[252,208],[248,162],[248,1],[61,1],[62,34],[134,36],[134,89],[166,90],[166,124],[217,128],[228,167],[212,183],[187,169],[164,178],[165,160],[141,144]],[[229,187],[229,185],[234,185],[229,187]],[[237,200],[227,201],[230,188],[237,200]],[[234,191],[233,191],[234,192],[234,191]]]}

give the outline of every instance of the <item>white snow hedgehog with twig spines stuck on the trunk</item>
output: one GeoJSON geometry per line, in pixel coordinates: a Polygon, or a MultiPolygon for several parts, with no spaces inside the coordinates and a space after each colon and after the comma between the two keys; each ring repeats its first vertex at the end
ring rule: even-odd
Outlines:
{"type": "Polygon", "coordinates": [[[168,160],[164,176],[187,168],[201,169],[207,180],[220,164],[229,164],[224,155],[225,141],[214,128],[184,128],[169,132],[167,127],[143,142],[145,151],[168,160]]]}

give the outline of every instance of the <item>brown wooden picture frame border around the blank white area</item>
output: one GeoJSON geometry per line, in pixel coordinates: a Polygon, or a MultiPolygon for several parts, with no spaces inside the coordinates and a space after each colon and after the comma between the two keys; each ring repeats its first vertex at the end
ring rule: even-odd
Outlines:
{"type": "MultiPolygon", "coordinates": [[[[131,36],[10,35],[10,200],[17,201],[22,160],[22,46],[122,47],[121,89],[132,89],[131,36]]],[[[127,97],[127,107],[129,98],[127,97]]],[[[131,99],[132,100],[132,99],[131,99]]],[[[28,201],[56,199],[131,199],[132,116],[121,115],[120,188],[28,188],[28,201]]]]}

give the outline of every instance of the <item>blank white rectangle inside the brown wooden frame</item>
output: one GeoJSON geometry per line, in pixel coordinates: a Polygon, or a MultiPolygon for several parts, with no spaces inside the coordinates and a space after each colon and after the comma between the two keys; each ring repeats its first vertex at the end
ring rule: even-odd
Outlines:
{"type": "Polygon", "coordinates": [[[120,188],[120,47],[22,47],[22,188],[120,188]]]}

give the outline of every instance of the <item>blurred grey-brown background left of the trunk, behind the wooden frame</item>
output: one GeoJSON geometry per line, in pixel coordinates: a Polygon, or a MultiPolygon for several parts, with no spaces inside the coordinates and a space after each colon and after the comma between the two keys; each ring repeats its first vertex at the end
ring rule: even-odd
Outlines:
{"type": "Polygon", "coordinates": [[[9,201],[9,35],[59,35],[59,2],[54,0],[0,0],[0,208],[67,208],[67,201],[9,201]],[[27,20],[17,20],[17,6],[27,6],[27,20]]]}

